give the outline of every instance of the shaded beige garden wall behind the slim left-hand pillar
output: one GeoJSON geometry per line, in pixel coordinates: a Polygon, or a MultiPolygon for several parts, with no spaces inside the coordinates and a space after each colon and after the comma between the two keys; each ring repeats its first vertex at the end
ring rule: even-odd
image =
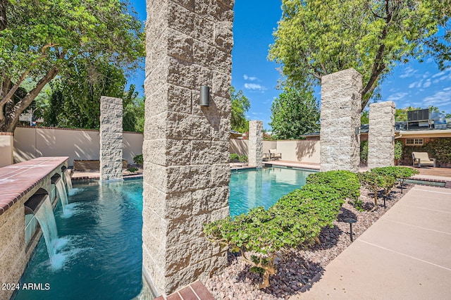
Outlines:
{"type": "MultiPolygon", "coordinates": [[[[123,158],[133,163],[142,154],[141,133],[123,133],[123,158]]],[[[100,139],[97,130],[69,130],[49,127],[17,127],[14,132],[14,161],[42,156],[69,156],[74,159],[99,159],[100,139]]]]}

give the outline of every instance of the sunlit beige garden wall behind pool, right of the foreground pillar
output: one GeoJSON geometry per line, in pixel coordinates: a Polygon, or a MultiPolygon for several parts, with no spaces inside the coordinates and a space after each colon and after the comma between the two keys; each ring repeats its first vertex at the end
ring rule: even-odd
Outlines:
{"type": "MultiPolygon", "coordinates": [[[[247,139],[230,139],[230,153],[248,155],[248,143],[247,139]]],[[[319,141],[316,140],[264,141],[263,153],[269,153],[268,149],[277,149],[284,161],[319,163],[319,141]]]]}

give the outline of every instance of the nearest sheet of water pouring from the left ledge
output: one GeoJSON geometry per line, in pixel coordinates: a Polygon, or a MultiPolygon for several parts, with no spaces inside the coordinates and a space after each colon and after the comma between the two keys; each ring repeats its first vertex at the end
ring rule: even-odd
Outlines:
{"type": "Polygon", "coordinates": [[[56,254],[55,243],[58,239],[58,231],[56,230],[56,221],[54,211],[51,207],[50,198],[46,196],[41,206],[35,213],[35,217],[44,235],[44,241],[47,246],[47,252],[50,260],[54,258],[56,254]]]}

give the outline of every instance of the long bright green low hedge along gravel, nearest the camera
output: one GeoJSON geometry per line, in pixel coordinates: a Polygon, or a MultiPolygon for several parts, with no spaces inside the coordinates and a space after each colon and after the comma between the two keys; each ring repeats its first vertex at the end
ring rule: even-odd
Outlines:
{"type": "Polygon", "coordinates": [[[206,224],[204,233],[212,242],[239,251],[244,261],[252,266],[251,270],[263,274],[259,288],[268,287],[269,276],[277,271],[274,261],[280,249],[319,242],[321,229],[333,225],[346,198],[343,190],[347,185],[340,180],[352,177],[346,175],[349,174],[325,172],[315,180],[332,182],[332,186],[308,183],[280,198],[268,210],[260,206],[234,219],[229,217],[206,224]],[[247,251],[255,255],[248,257],[247,251]]]}

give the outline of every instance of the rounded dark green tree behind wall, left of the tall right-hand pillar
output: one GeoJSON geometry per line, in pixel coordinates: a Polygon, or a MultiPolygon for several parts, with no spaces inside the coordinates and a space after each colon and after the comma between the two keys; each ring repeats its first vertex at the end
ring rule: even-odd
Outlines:
{"type": "Polygon", "coordinates": [[[301,139],[319,130],[319,104],[311,89],[285,90],[271,106],[271,127],[278,139],[301,139]]]}

